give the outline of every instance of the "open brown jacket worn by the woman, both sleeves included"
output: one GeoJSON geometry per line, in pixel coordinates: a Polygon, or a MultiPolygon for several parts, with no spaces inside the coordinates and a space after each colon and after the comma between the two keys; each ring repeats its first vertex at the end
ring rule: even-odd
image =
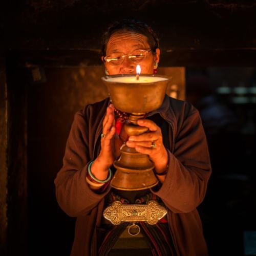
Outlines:
{"type": "MultiPolygon", "coordinates": [[[[88,163],[100,151],[102,121],[109,98],[75,114],[63,166],[55,179],[60,207],[77,217],[72,256],[97,255],[96,226],[100,225],[104,197],[86,182],[88,163]]],[[[168,223],[178,255],[206,256],[197,206],[204,199],[211,167],[198,111],[189,103],[165,95],[159,113],[169,123],[168,173],[161,188],[152,192],[168,208],[168,223]]]]}

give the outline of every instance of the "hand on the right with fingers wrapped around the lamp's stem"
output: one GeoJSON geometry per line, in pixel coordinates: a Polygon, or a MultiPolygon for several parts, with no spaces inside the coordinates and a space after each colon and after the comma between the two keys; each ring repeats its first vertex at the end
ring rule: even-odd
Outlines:
{"type": "Polygon", "coordinates": [[[160,127],[149,119],[139,119],[138,125],[148,127],[149,131],[129,137],[126,145],[135,147],[137,152],[148,155],[155,164],[156,173],[163,173],[167,168],[168,154],[163,145],[160,127]],[[155,147],[152,147],[154,143],[155,147]]]}

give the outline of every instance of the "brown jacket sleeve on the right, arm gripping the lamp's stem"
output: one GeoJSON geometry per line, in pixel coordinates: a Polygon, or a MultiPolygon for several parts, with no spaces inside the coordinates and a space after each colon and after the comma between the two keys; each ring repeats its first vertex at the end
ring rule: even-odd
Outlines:
{"type": "Polygon", "coordinates": [[[174,153],[168,151],[165,180],[152,192],[173,212],[190,212],[203,201],[210,174],[205,133],[199,112],[193,108],[177,133],[174,153]]]}

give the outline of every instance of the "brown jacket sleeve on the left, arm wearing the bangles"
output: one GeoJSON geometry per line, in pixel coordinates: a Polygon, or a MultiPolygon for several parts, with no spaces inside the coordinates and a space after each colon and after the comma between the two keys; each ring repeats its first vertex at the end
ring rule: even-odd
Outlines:
{"type": "Polygon", "coordinates": [[[63,157],[63,165],[54,180],[59,206],[71,217],[85,216],[108,193],[95,193],[86,182],[89,157],[88,124],[77,112],[71,126],[63,157]]]}

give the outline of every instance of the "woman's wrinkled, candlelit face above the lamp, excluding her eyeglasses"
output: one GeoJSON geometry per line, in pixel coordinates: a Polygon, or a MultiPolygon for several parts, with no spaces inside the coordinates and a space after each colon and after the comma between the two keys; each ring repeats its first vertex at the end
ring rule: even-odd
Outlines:
{"type": "MultiPolygon", "coordinates": [[[[119,52],[124,55],[133,53],[136,50],[150,51],[146,36],[133,32],[116,32],[106,45],[106,56],[119,52]]],[[[105,68],[109,71],[110,75],[116,74],[136,74],[136,66],[140,65],[142,74],[153,74],[155,62],[159,61],[160,50],[156,50],[156,54],[152,51],[148,52],[146,57],[135,63],[127,56],[124,58],[120,65],[114,66],[109,62],[105,63],[105,68]]],[[[102,56],[102,60],[103,60],[102,56]]]]}

